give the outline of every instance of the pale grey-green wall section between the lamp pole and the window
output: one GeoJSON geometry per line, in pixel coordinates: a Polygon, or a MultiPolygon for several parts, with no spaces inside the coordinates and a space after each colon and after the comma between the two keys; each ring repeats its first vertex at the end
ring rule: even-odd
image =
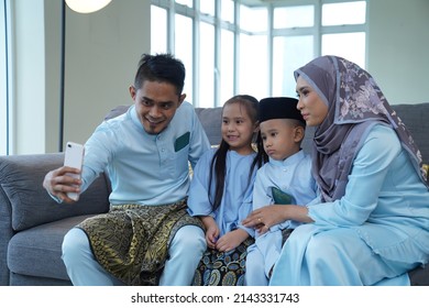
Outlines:
{"type": "Polygon", "coordinates": [[[113,0],[91,14],[67,10],[65,142],[85,142],[109,110],[132,103],[129,86],[151,47],[150,13],[150,0],[113,0]]]}

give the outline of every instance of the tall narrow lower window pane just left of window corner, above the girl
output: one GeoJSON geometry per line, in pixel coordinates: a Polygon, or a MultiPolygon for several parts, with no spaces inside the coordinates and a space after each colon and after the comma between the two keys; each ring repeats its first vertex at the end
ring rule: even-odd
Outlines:
{"type": "Polygon", "coordinates": [[[220,54],[220,101],[219,105],[230,99],[234,94],[234,34],[231,31],[221,31],[221,54],[220,54]]]}

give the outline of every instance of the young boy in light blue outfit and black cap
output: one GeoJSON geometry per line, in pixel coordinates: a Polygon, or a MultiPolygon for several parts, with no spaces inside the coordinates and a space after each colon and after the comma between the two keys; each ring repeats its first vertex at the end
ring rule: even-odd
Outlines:
{"type": "Polygon", "coordinates": [[[290,220],[270,226],[270,216],[279,209],[271,205],[307,205],[316,198],[311,160],[300,148],[306,122],[296,108],[297,102],[286,97],[265,98],[260,102],[260,133],[270,158],[256,174],[253,210],[267,208],[264,216],[257,218],[255,243],[248,249],[246,285],[268,285],[283,243],[298,226],[290,220]]]}

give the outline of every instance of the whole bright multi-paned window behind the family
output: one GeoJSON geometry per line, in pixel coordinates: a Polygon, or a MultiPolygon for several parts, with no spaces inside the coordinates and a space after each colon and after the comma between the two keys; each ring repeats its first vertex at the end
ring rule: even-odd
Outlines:
{"type": "Polygon", "coordinates": [[[238,94],[295,96],[293,72],[319,55],[334,54],[365,67],[366,1],[165,2],[152,1],[153,11],[163,12],[156,13],[152,47],[184,61],[188,100],[197,107],[222,106],[238,94]],[[167,13],[172,9],[175,13],[167,13]],[[175,25],[174,33],[167,24],[175,25]]]}

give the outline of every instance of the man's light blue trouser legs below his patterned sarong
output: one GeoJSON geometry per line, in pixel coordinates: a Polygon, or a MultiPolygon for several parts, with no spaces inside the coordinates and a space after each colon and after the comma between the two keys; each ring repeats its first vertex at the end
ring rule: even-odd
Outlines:
{"type": "MultiPolygon", "coordinates": [[[[168,258],[160,285],[189,286],[206,249],[205,233],[201,228],[182,227],[168,248],[168,258]]],[[[64,237],[63,261],[75,286],[123,285],[97,262],[88,237],[79,228],[73,228],[64,237]]]]}

